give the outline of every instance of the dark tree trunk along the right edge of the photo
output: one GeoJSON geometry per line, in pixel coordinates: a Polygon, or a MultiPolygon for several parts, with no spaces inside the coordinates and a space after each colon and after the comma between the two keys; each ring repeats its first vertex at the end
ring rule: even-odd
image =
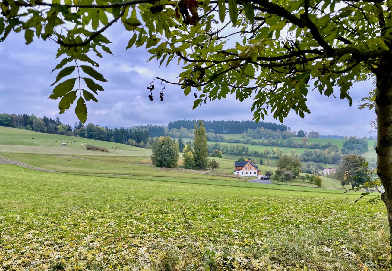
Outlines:
{"type": "MultiPolygon", "coordinates": [[[[376,70],[377,175],[385,192],[381,199],[388,211],[389,244],[392,246],[392,69],[387,64],[376,70]]],[[[392,258],[391,262],[392,264],[392,258]]]]}

